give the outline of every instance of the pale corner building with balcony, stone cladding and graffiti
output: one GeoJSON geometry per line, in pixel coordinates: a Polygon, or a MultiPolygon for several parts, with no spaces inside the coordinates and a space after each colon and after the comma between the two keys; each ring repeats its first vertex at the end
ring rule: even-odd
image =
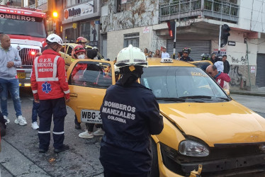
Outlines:
{"type": "Polygon", "coordinates": [[[265,3],[263,0],[104,0],[101,6],[102,50],[115,59],[129,43],[154,51],[173,40],[167,21],[176,20],[176,51],[191,47],[191,57],[218,52],[220,25],[230,26],[228,44],[221,48],[230,62],[232,89],[265,86],[265,3]],[[235,46],[234,46],[235,45],[235,46]]]}

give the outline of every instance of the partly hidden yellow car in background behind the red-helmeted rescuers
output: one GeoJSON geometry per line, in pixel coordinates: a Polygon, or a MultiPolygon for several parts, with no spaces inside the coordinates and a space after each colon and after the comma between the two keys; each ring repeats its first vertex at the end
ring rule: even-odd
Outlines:
{"type": "MultiPolygon", "coordinates": [[[[76,43],[64,43],[62,45],[62,49],[59,52],[61,57],[64,58],[65,62],[65,69],[68,69],[70,64],[75,60],[72,58],[72,51],[74,50],[74,47],[76,47],[78,44],[76,43]]],[[[86,45],[87,49],[92,49],[90,45],[86,45]]],[[[103,56],[98,52],[98,59],[103,59],[103,56]]]]}

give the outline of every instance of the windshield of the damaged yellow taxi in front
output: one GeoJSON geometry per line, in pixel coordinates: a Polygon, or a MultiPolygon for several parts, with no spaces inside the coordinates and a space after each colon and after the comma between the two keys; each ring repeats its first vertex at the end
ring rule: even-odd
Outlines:
{"type": "Polygon", "coordinates": [[[230,101],[218,84],[197,67],[148,67],[144,68],[140,81],[152,90],[157,100],[230,101]]]}

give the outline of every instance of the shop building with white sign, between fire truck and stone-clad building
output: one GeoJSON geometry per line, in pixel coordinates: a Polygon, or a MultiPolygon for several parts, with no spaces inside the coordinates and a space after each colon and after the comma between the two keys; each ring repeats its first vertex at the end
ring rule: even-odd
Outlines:
{"type": "Polygon", "coordinates": [[[62,37],[75,42],[79,36],[89,40],[89,45],[99,47],[100,1],[58,1],[62,7],[62,37]]]}

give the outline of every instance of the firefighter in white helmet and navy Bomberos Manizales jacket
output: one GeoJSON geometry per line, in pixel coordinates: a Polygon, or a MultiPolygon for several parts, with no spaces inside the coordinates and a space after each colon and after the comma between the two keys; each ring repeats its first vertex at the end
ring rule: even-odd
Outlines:
{"type": "Polygon", "coordinates": [[[110,86],[101,105],[105,135],[100,161],[104,176],[148,176],[152,166],[150,135],[162,132],[159,105],[150,89],[139,84],[145,54],[137,47],[120,50],[115,66],[120,79],[110,86]]]}

